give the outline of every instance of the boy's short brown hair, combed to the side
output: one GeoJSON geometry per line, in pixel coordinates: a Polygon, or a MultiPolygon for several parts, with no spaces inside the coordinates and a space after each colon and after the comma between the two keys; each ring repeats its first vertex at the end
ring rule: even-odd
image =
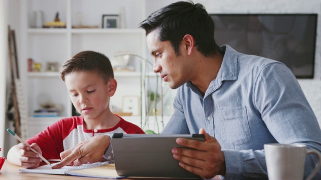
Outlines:
{"type": "Polygon", "coordinates": [[[90,71],[98,73],[105,81],[114,78],[114,71],[109,58],[91,50],[81,51],[71,59],[66,60],[60,68],[60,76],[65,81],[65,76],[74,71],[90,71]]]}

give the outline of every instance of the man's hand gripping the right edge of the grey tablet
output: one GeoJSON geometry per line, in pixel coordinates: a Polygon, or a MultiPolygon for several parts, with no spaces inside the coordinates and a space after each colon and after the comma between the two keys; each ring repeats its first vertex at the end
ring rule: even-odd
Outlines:
{"type": "Polygon", "coordinates": [[[179,160],[180,166],[184,169],[198,174],[203,178],[212,178],[217,174],[225,174],[225,157],[219,142],[204,128],[200,134],[205,135],[205,142],[186,138],[177,138],[176,142],[190,148],[175,147],[172,153],[175,159],[179,160]]]}

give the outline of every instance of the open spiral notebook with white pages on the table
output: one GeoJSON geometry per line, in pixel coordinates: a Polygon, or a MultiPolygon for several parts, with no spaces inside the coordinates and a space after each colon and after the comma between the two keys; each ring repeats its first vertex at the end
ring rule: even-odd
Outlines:
{"type": "MultiPolygon", "coordinates": [[[[57,162],[58,163],[58,162],[57,162]]],[[[54,165],[56,163],[53,163],[54,165]]],[[[52,169],[51,165],[43,165],[33,169],[19,169],[19,172],[43,173],[43,174],[59,174],[74,175],[83,177],[98,177],[120,179],[125,176],[119,176],[116,172],[115,165],[111,161],[87,163],[79,166],[64,166],[59,169],[52,169]]]]}

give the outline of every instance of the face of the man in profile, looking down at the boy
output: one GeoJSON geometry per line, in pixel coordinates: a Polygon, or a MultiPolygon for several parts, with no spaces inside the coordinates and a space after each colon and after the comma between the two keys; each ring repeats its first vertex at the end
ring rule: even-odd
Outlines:
{"type": "Polygon", "coordinates": [[[178,88],[188,80],[188,63],[185,60],[183,45],[180,45],[181,55],[177,56],[170,41],[160,41],[158,31],[153,30],[146,36],[147,46],[153,56],[153,70],[159,72],[164,81],[169,82],[173,89],[178,88]]]}

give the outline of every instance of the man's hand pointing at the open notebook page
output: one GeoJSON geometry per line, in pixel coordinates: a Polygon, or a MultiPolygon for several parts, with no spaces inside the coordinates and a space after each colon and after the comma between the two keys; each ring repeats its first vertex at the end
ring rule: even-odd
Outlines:
{"type": "Polygon", "coordinates": [[[52,166],[52,168],[55,169],[65,165],[81,165],[87,162],[95,162],[103,156],[104,151],[109,144],[109,135],[93,136],[90,139],[78,143],[73,148],[61,152],[60,157],[62,160],[52,166]]]}

